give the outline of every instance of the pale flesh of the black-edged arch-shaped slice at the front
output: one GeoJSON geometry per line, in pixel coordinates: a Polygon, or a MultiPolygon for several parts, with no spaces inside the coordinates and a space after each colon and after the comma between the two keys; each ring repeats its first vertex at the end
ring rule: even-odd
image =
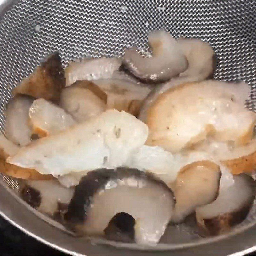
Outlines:
{"type": "Polygon", "coordinates": [[[93,207],[89,213],[94,218],[91,217],[85,222],[85,232],[102,234],[116,213],[126,212],[136,221],[136,243],[155,245],[171,219],[173,198],[160,186],[150,183],[138,184],[135,179],[122,180],[122,184],[112,184],[110,181],[109,185],[117,188],[106,189],[104,193],[99,191],[94,196],[93,207]],[[134,188],[131,183],[134,184],[134,188]],[[102,211],[104,214],[101,214],[102,211]]]}

